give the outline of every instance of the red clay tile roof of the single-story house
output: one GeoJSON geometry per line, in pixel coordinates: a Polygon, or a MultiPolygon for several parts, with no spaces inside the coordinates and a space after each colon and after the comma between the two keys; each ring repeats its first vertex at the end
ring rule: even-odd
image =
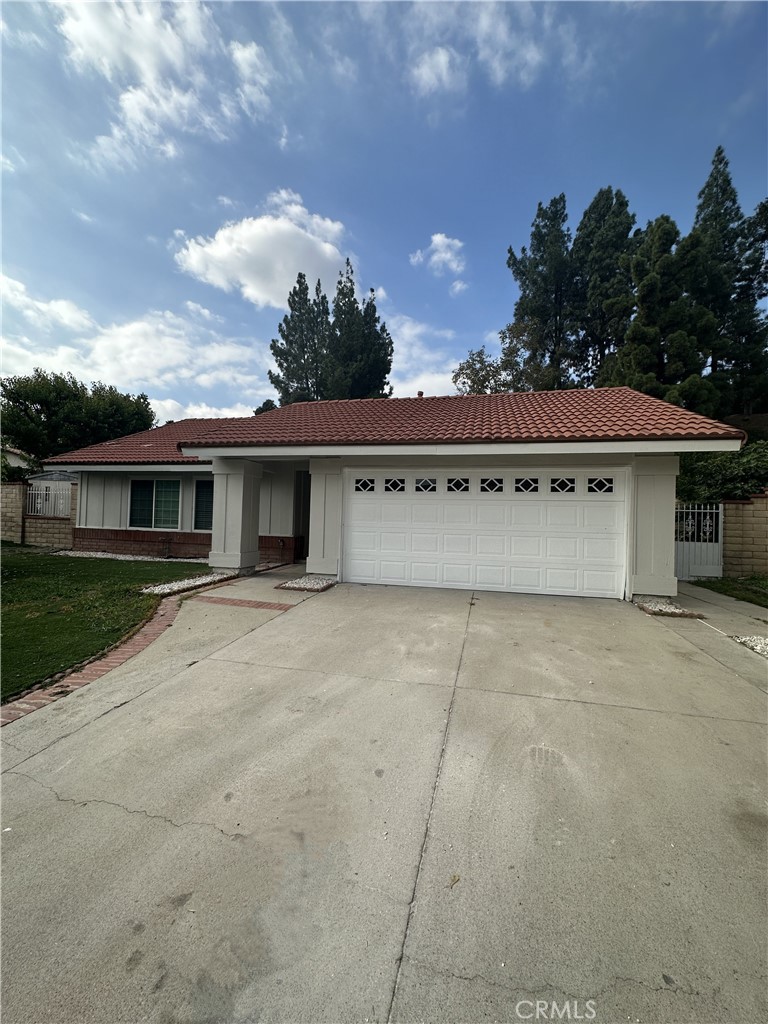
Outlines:
{"type": "Polygon", "coordinates": [[[194,456],[180,455],[180,444],[211,449],[743,437],[736,427],[618,387],[296,402],[259,416],[183,420],[47,462],[195,462],[194,456]]]}

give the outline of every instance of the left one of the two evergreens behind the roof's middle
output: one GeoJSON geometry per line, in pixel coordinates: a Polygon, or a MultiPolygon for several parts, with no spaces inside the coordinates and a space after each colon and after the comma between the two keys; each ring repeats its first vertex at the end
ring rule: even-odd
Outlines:
{"type": "Polygon", "coordinates": [[[270,370],[268,376],[280,395],[281,406],[324,397],[323,369],[330,324],[328,299],[321,291],[319,281],[312,301],[306,276],[299,273],[288,296],[288,313],[278,327],[278,333],[280,340],[273,339],[269,346],[278,373],[270,370]]]}

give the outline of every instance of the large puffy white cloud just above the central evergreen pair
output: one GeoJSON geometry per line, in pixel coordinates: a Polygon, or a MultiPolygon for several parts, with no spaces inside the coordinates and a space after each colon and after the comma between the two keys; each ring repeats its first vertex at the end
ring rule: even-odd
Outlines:
{"type": "Polygon", "coordinates": [[[225,292],[239,289],[259,308],[283,309],[303,271],[310,286],[335,282],[344,259],[344,225],[310,213],[289,188],[272,193],[260,217],[224,224],[213,238],[189,239],[175,259],[186,273],[225,292]]]}

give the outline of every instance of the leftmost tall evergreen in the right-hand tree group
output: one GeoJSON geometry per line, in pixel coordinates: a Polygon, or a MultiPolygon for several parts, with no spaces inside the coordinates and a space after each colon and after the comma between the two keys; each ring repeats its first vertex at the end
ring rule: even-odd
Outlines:
{"type": "Polygon", "coordinates": [[[528,353],[527,360],[541,371],[547,388],[569,387],[568,367],[573,353],[568,334],[571,292],[570,230],[565,196],[539,204],[531,224],[530,246],[518,256],[510,246],[507,266],[520,289],[514,326],[528,353]]]}

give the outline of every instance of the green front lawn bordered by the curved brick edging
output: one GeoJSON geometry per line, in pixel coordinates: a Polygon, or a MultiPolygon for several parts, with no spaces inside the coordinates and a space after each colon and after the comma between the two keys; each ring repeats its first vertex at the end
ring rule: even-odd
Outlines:
{"type": "Polygon", "coordinates": [[[2,546],[2,699],[122,640],[161,601],[142,587],[207,571],[190,562],[67,558],[2,546]]]}

